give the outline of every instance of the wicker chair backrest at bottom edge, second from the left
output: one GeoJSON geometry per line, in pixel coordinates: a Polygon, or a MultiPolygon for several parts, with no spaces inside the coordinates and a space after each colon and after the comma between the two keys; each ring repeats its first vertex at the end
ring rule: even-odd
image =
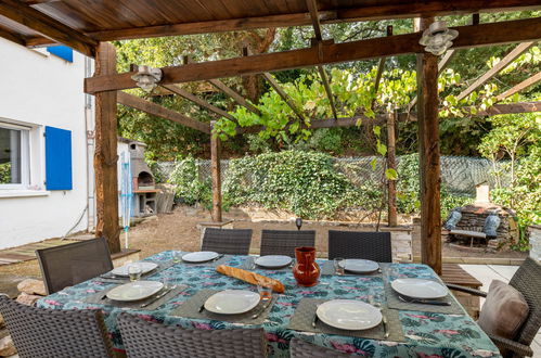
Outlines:
{"type": "Polygon", "coordinates": [[[185,330],[130,315],[117,317],[129,358],[248,358],[266,357],[262,329],[185,330]]]}

